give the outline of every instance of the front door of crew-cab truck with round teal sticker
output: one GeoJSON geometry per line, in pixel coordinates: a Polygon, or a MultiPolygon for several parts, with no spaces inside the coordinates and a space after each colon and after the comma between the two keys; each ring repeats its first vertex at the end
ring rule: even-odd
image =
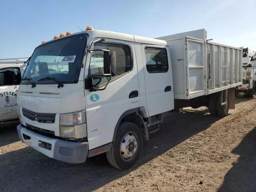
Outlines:
{"type": "MultiPolygon", "coordinates": [[[[105,90],[85,90],[87,135],[89,150],[110,143],[120,117],[128,110],[140,107],[138,71],[134,45],[121,40],[95,43],[94,49],[109,49],[116,53],[116,74],[105,90]]],[[[103,51],[88,53],[86,66],[90,74],[103,74],[103,51]]],[[[87,74],[85,74],[87,77],[87,74]]],[[[95,88],[104,88],[108,79],[93,80],[95,88]]]]}

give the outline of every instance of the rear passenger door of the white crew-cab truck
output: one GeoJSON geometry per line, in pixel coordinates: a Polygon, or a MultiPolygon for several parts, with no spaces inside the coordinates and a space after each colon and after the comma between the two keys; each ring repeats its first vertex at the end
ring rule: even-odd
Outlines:
{"type": "Polygon", "coordinates": [[[149,116],[174,109],[172,65],[168,47],[142,44],[149,116]]]}

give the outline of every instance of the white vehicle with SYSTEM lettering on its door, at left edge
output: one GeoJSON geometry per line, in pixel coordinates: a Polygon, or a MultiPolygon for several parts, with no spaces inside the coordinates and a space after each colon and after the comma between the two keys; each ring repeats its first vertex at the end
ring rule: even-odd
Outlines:
{"type": "Polygon", "coordinates": [[[0,59],[0,124],[18,119],[17,94],[26,68],[24,59],[0,59]]]}

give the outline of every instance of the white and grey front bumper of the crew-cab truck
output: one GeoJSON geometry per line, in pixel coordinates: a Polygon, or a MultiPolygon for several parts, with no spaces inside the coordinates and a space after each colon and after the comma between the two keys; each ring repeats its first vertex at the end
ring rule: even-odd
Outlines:
{"type": "Polygon", "coordinates": [[[17,126],[17,131],[22,142],[50,158],[73,164],[86,161],[88,142],[70,142],[49,138],[27,130],[21,124],[17,126]]]}

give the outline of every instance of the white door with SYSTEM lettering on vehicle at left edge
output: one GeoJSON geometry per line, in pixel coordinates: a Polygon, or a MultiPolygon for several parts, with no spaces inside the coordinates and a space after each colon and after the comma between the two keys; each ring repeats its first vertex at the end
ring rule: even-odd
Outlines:
{"type": "Polygon", "coordinates": [[[0,69],[0,122],[18,118],[16,106],[20,81],[20,68],[0,69]]]}

